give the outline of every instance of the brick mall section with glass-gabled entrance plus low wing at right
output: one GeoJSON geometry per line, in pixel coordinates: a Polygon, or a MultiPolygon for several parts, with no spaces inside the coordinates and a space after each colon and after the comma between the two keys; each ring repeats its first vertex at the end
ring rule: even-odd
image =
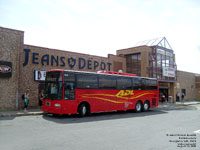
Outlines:
{"type": "Polygon", "coordinates": [[[165,37],[138,42],[135,47],[117,50],[117,55],[126,58],[128,73],[157,78],[160,96],[174,102],[182,93],[185,100],[200,99],[199,75],[177,70],[174,51],[165,37]]]}

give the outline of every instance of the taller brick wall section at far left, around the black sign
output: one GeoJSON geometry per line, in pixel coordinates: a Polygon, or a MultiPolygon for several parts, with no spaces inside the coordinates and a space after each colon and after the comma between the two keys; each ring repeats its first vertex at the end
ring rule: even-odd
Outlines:
{"type": "Polygon", "coordinates": [[[0,61],[12,63],[12,76],[0,78],[0,110],[18,107],[19,50],[24,32],[0,27],[0,61]]]}

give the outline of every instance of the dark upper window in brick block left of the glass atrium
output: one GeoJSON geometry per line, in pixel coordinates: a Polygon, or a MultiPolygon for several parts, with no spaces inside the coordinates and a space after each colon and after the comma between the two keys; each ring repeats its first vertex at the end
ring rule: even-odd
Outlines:
{"type": "Polygon", "coordinates": [[[141,76],[141,53],[126,55],[127,73],[141,76]]]}

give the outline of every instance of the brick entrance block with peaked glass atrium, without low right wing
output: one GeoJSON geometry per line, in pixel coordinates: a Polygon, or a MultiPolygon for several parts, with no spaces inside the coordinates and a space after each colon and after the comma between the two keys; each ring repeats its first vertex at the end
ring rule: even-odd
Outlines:
{"type": "Polygon", "coordinates": [[[117,54],[126,57],[128,73],[158,79],[160,101],[163,96],[165,101],[174,98],[177,66],[175,54],[165,37],[139,42],[135,47],[118,50],[117,54]]]}

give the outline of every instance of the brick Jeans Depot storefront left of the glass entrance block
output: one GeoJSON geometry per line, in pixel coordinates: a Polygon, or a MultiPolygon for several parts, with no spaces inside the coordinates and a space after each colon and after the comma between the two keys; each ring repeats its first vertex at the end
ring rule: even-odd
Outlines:
{"type": "Polygon", "coordinates": [[[38,106],[47,70],[96,72],[126,70],[125,58],[99,57],[64,50],[25,45],[24,32],[0,27],[0,110],[23,107],[21,95],[30,89],[30,107],[38,106]]]}

